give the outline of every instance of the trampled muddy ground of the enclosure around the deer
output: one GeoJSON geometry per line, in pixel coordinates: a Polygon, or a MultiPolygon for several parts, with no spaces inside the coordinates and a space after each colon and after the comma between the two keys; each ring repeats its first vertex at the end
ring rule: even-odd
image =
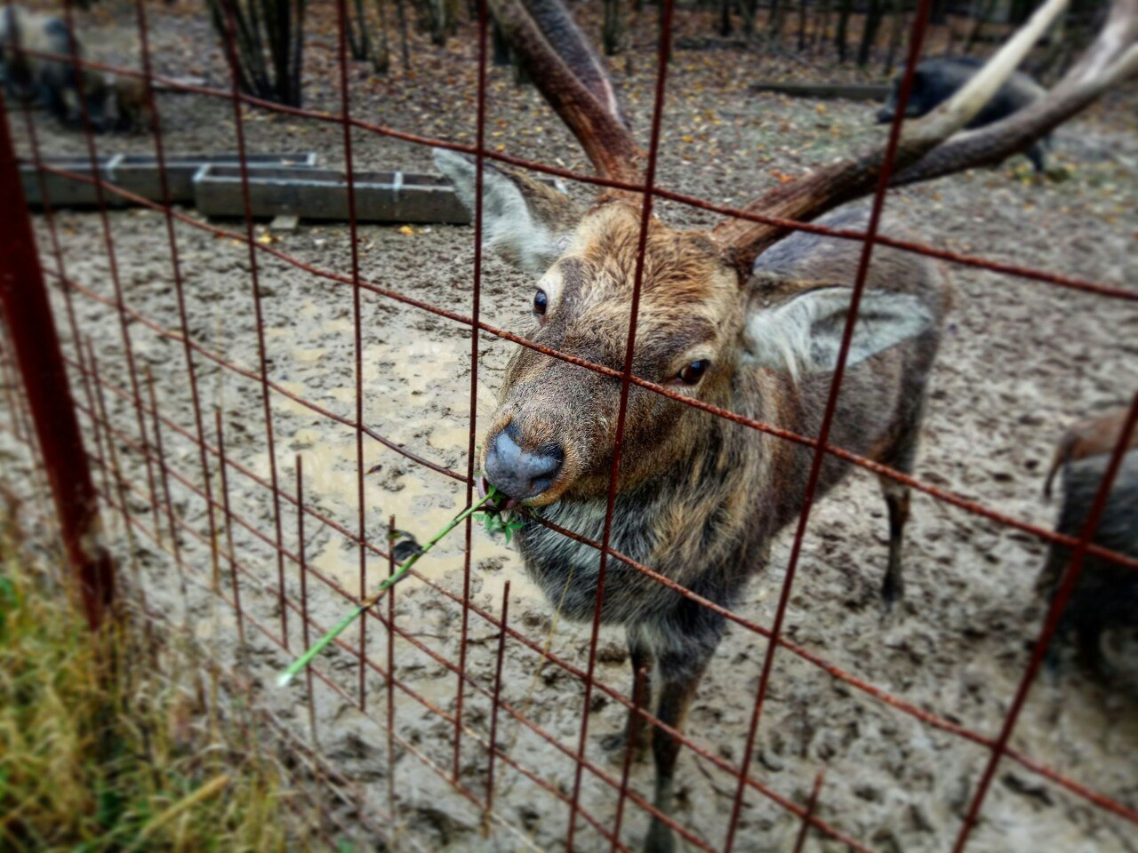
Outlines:
{"type": "MultiPolygon", "coordinates": [[[[327,13],[327,10],[324,10],[327,13]]],[[[132,60],[131,19],[92,23],[92,55],[132,60]]],[[[226,84],[206,23],[174,7],[155,10],[156,64],[172,75],[205,73],[226,84]],[[212,51],[212,52],[211,52],[212,51]]],[[[318,28],[319,32],[319,28],[318,28]]],[[[325,31],[327,32],[327,31],[325,31]]],[[[630,118],[645,129],[650,119],[651,27],[635,40],[630,68],[617,63],[616,81],[630,118]],[[632,73],[629,73],[629,71],[632,73]]],[[[475,64],[470,33],[448,52],[417,50],[411,73],[376,77],[353,65],[353,111],[380,123],[450,139],[473,138],[475,64]]],[[[310,44],[313,68],[307,106],[335,109],[337,78],[331,64],[335,42],[316,36],[310,44]]],[[[797,64],[778,64],[756,53],[677,50],[670,69],[661,144],[662,185],[718,202],[742,201],[798,174],[814,163],[868,140],[871,108],[864,103],[824,105],[749,93],[760,76],[793,75],[797,64]]],[[[808,73],[825,76],[824,72],[808,73]]],[[[838,72],[832,72],[836,74],[838,72]]],[[[1131,89],[1112,96],[1090,115],[1062,129],[1055,159],[1067,180],[1036,180],[1025,162],[1014,159],[997,171],[975,172],[891,194],[889,209],[904,216],[922,241],[1081,279],[1135,288],[1138,210],[1138,136],[1131,89]]],[[[231,107],[218,99],[165,94],[160,114],[167,151],[232,150],[231,107]]],[[[582,155],[531,89],[512,85],[506,72],[490,73],[490,139],[504,150],[584,169],[582,155]]],[[[23,119],[11,116],[22,150],[27,151],[23,119]]],[[[36,117],[44,154],[81,151],[72,133],[36,117]]],[[[321,162],[341,165],[339,127],[311,119],[246,113],[250,151],[314,150],[321,162]]],[[[152,151],[147,136],[104,136],[104,151],[152,151]]],[[[358,168],[401,167],[430,171],[429,151],[391,139],[356,132],[358,168]]],[[[574,192],[587,198],[587,189],[574,192]]],[[[190,216],[192,209],[184,210],[190,216]]],[[[668,221],[706,224],[709,218],[665,205],[668,221]]],[[[93,213],[58,212],[55,217],[61,257],[51,252],[47,220],[36,217],[40,249],[49,270],[58,271],[105,300],[115,298],[100,217],[93,213]]],[[[166,220],[149,210],[114,212],[108,217],[117,281],[126,305],[178,332],[176,291],[166,220]]],[[[244,223],[215,223],[244,233],[244,223]]],[[[271,248],[338,275],[351,275],[351,237],[346,225],[304,225],[296,232],[258,239],[271,248]]],[[[259,371],[258,337],[245,245],[191,225],[175,223],[174,238],[192,340],[254,376],[259,371]]],[[[379,287],[467,315],[471,309],[472,229],[364,225],[358,231],[361,276],[379,287]]],[[[264,350],[269,376],[283,391],[336,415],[355,417],[353,289],[312,275],[273,258],[255,257],[264,315],[264,350]]],[[[1096,297],[1026,279],[970,267],[953,270],[956,307],[932,376],[931,407],[916,474],[925,482],[1032,523],[1049,523],[1054,506],[1041,496],[1042,475],[1055,438],[1072,420],[1122,401],[1138,387],[1138,309],[1132,303],[1096,297]]],[[[483,281],[483,316],[497,326],[525,333],[529,328],[530,282],[496,259],[487,259],[483,281]]],[[[56,290],[57,320],[65,350],[75,357],[65,303],[56,290]]],[[[196,431],[179,340],[139,322],[125,329],[108,305],[75,293],[81,334],[98,357],[99,375],[122,394],[131,378],[125,367],[124,333],[129,336],[139,381],[152,372],[159,408],[185,433],[196,431]]],[[[467,470],[470,399],[469,329],[427,310],[378,293],[361,295],[363,343],[363,415],[365,424],[391,441],[453,471],[467,470]]],[[[478,340],[477,417],[486,423],[494,409],[500,376],[512,345],[489,334],[478,340]]],[[[230,458],[261,478],[272,475],[266,446],[262,388],[255,379],[198,354],[198,395],[206,436],[215,446],[213,411],[223,412],[230,458]]],[[[77,382],[81,405],[88,405],[77,382]]],[[[126,480],[127,502],[141,524],[152,527],[147,469],[137,449],[138,422],[121,394],[108,389],[106,405],[115,425],[115,448],[126,480]],[[129,441],[127,441],[129,440],[129,441]]],[[[7,404],[5,404],[7,405],[7,404]]],[[[305,500],[351,531],[357,528],[357,459],[355,431],[297,403],[271,394],[275,436],[275,473],[287,492],[295,489],[296,458],[304,457],[305,500]]],[[[5,421],[7,423],[7,421],[5,421]]],[[[86,423],[84,421],[84,423],[86,423]]],[[[148,431],[151,425],[148,423],[148,431]]],[[[106,439],[106,436],[101,437],[106,439]]],[[[163,426],[165,458],[185,479],[168,487],[181,524],[182,571],[141,529],[127,546],[121,517],[108,513],[109,535],[124,565],[138,570],[151,607],[187,620],[199,638],[226,664],[237,660],[232,611],[208,593],[211,561],[206,505],[200,489],[200,456],[185,436],[163,426]],[[192,488],[187,486],[190,483],[192,488]]],[[[152,441],[152,433],[151,433],[152,441]]],[[[26,459],[10,432],[0,432],[5,478],[19,478],[26,459]],[[9,475],[8,472],[13,472],[9,475]]],[[[96,446],[92,436],[92,447],[96,446]]],[[[102,455],[109,455],[98,445],[102,455]]],[[[438,529],[465,499],[465,486],[424,469],[365,438],[363,467],[382,465],[365,478],[366,536],[382,544],[387,517],[420,538],[438,529]]],[[[218,490],[216,458],[211,457],[211,486],[218,490]]],[[[96,479],[116,494],[114,481],[96,470],[96,479]]],[[[280,613],[265,586],[275,586],[278,563],[271,492],[230,469],[232,510],[251,530],[234,523],[232,536],[240,562],[242,604],[274,637],[280,613]],[[254,532],[255,531],[255,532],[254,532]],[[267,540],[267,541],[266,541],[267,540]]],[[[160,492],[160,479],[157,482],[160,492]]],[[[761,488],[757,483],[756,488],[761,488]]],[[[1046,548],[1030,535],[937,503],[914,499],[907,543],[907,591],[904,605],[882,618],[877,589],[885,563],[887,521],[875,478],[853,472],[818,505],[786,620],[786,636],[852,673],[942,718],[995,737],[1029,657],[1031,638],[1041,622],[1041,606],[1031,591],[1046,548]]],[[[282,544],[296,554],[297,523],[291,504],[281,502],[282,544]]],[[[163,546],[171,547],[165,517],[159,517],[163,546]]],[[[308,606],[322,626],[345,611],[341,595],[320,578],[348,590],[360,586],[356,547],[340,533],[308,517],[305,525],[308,606]]],[[[789,552],[784,532],[770,570],[753,580],[741,607],[748,619],[769,624],[789,552]]],[[[444,540],[423,573],[461,597],[463,537],[444,540]]],[[[366,583],[387,573],[387,562],[366,560],[366,583]]],[[[299,601],[297,566],[284,560],[287,589],[299,601]]],[[[517,554],[481,531],[473,535],[471,599],[492,612],[511,583],[510,622],[536,644],[584,668],[588,629],[559,621],[554,611],[522,573],[517,554]]],[[[230,568],[222,561],[221,582],[230,588],[230,568]]],[[[459,660],[462,610],[453,599],[418,581],[398,588],[397,623],[415,641],[450,661],[459,660]]],[[[300,621],[288,614],[290,643],[303,638],[300,621]]],[[[307,732],[305,688],[272,686],[273,673],[290,655],[251,624],[246,626],[246,663],[258,684],[259,701],[307,732]]],[[[496,629],[477,614],[469,620],[467,666],[484,687],[493,684],[496,629]]],[[[352,629],[349,645],[358,644],[352,629]]],[[[693,739],[727,762],[739,762],[765,641],[732,628],[711,663],[695,698],[688,730],[693,739]]],[[[373,622],[366,652],[386,666],[385,635],[373,622]]],[[[315,689],[318,737],[328,760],[358,785],[366,814],[394,827],[391,848],[421,850],[562,850],[568,806],[555,795],[503,762],[496,770],[496,822],[480,834],[477,808],[423,764],[450,772],[454,726],[424,709],[453,714],[456,676],[410,640],[395,646],[396,745],[389,762],[385,727],[385,680],[369,670],[366,704],[357,704],[358,663],[340,649],[320,664],[347,693],[344,698],[324,685],[315,689]],[[418,697],[418,698],[417,698],[418,697]],[[396,812],[387,813],[389,786],[396,812]]],[[[602,630],[597,676],[607,685],[628,689],[627,662],[618,632],[602,630]]],[[[1012,738],[1013,746],[1036,761],[1070,776],[1088,788],[1138,809],[1138,693],[1106,689],[1071,665],[1046,673],[1012,738]]],[[[508,644],[502,698],[526,709],[527,717],[566,750],[577,748],[583,690],[580,681],[546,664],[521,643],[508,644]]],[[[489,702],[467,690],[460,755],[461,782],[477,797],[486,787],[486,754],[477,740],[488,731],[489,702]]],[[[620,765],[600,748],[601,736],[622,724],[622,707],[594,693],[589,709],[587,756],[610,777],[620,765]]],[[[574,761],[528,728],[503,713],[498,743],[510,757],[551,788],[569,793],[574,761]]],[[[983,770],[987,751],[958,736],[930,727],[912,715],[834,679],[786,652],[776,656],[768,702],[759,731],[752,776],[778,795],[805,803],[815,775],[826,771],[817,814],[877,851],[943,851],[951,846],[983,770]]],[[[601,826],[611,827],[617,797],[585,772],[582,808],[601,826]]],[[[632,771],[632,788],[648,796],[650,764],[632,771]]],[[[734,796],[733,778],[710,761],[685,751],[679,762],[679,802],[675,814],[715,848],[723,843],[734,796]]],[[[338,806],[341,819],[353,813],[338,806]]],[[[635,847],[643,812],[629,804],[622,839],[635,847]]],[[[769,800],[749,792],[736,851],[790,850],[799,822],[769,800]]],[[[361,846],[378,843],[365,829],[347,833],[361,846]]],[[[578,821],[578,848],[602,850],[608,843],[584,820],[578,821]]],[[[692,846],[692,850],[695,847],[692,846]]],[[[813,834],[807,850],[846,846],[813,834]]],[[[975,851],[1071,851],[1108,853],[1138,850],[1135,827],[1044,780],[1013,761],[1001,763],[982,820],[973,834],[975,851]]]]}

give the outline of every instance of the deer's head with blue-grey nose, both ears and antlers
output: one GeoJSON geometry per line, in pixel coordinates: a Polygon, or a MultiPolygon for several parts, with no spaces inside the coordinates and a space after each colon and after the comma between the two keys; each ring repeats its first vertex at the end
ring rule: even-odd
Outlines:
{"type": "MultiPolygon", "coordinates": [[[[638,183],[644,154],[621,117],[604,68],[560,0],[490,0],[530,77],[580,140],[596,173],[638,183]]],[[[1064,9],[1048,0],[957,94],[898,136],[898,182],[924,180],[1021,150],[1138,67],[1138,0],[1120,0],[1103,34],[1055,90],[979,131],[958,133],[1014,72],[1064,9]]],[[[904,97],[904,93],[902,93],[904,97]]],[[[519,348],[506,370],[500,408],[483,444],[481,467],[505,494],[541,506],[603,495],[621,440],[621,488],[661,470],[699,441],[701,415],[634,386],[617,434],[630,310],[638,308],[632,374],[681,396],[729,407],[740,370],[765,368],[793,383],[832,371],[850,307],[833,281],[770,282],[751,275],[756,257],[787,233],[867,194],[879,181],[884,143],[783,184],[711,231],[678,231],[651,216],[640,193],[608,190],[587,210],[504,165],[485,164],[483,233],[487,248],[536,276],[530,340],[577,364],[519,348]]],[[[475,208],[476,166],[439,149],[439,168],[475,208]]],[[[847,364],[856,364],[927,328],[912,296],[888,288],[863,295],[847,364]]]]}

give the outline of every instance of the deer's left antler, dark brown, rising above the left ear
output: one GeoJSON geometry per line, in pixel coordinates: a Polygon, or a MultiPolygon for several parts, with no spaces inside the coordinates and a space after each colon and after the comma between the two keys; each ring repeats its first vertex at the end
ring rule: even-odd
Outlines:
{"type": "Polygon", "coordinates": [[[644,154],[612,81],[560,0],[489,0],[522,67],[569,126],[602,177],[638,183],[644,154]]]}

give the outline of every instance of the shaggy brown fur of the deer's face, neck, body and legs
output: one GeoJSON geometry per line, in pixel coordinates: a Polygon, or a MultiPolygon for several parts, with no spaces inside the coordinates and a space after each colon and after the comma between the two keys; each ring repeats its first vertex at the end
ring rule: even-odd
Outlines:
{"type": "MultiPolygon", "coordinates": [[[[440,154],[440,167],[469,194],[470,164],[440,154]]],[[[531,182],[510,169],[486,172],[485,210],[513,209],[529,199],[523,226],[500,227],[487,214],[488,242],[504,257],[555,258],[538,281],[549,307],[530,334],[536,343],[612,370],[622,368],[629,304],[641,230],[640,206],[610,198],[584,214],[569,234],[574,209],[563,199],[535,193],[531,182]],[[511,189],[512,188],[512,189],[511,189]],[[513,204],[502,197],[517,190],[513,204]],[[528,231],[527,231],[528,229],[528,231]],[[535,238],[534,234],[537,237],[535,238]],[[536,241],[550,241],[547,251],[536,241]],[[519,251],[517,243],[529,243],[519,251]],[[560,252],[559,252],[560,249],[560,252]]],[[[835,212],[822,222],[865,227],[865,209],[835,212]]],[[[514,221],[517,223],[517,220],[514,221]]],[[[894,223],[887,223],[898,235],[894,223]]],[[[633,361],[635,375],[669,383],[685,364],[707,359],[711,368],[693,397],[732,412],[815,436],[832,373],[802,372],[759,363],[751,350],[749,321],[795,300],[853,283],[861,246],[797,233],[768,250],[750,282],[703,232],[649,223],[633,361]]],[[[534,268],[541,268],[535,260],[534,268]]],[[[853,363],[846,373],[831,442],[909,472],[920,432],[924,388],[948,309],[941,268],[916,255],[879,247],[866,298],[900,298],[902,310],[920,305],[924,320],[906,326],[891,346],[853,363]],[[872,295],[872,296],[871,296],[872,295]]],[[[865,316],[872,309],[863,306],[865,316]]],[[[918,314],[921,312],[917,312],[918,314]]],[[[844,314],[839,312],[839,320],[844,314]]],[[[866,321],[869,322],[868,320],[866,321]]],[[[885,321],[888,324],[888,320],[885,321]]],[[[863,329],[855,339],[859,339],[863,329]]],[[[841,323],[831,334],[840,334],[841,323]]],[[[872,349],[872,347],[871,347],[872,349]]],[[[500,406],[484,441],[513,425],[525,448],[551,444],[563,450],[555,480],[527,500],[543,517],[601,540],[620,398],[620,381],[533,349],[519,347],[504,376],[500,406]]],[[[766,565],[772,537],[797,517],[813,450],[800,444],[732,423],[634,386],[629,391],[611,546],[725,607],[736,605],[748,579],[766,565]]],[[[830,457],[819,494],[848,465],[830,457]]],[[[901,589],[900,537],[908,513],[907,489],[883,480],[890,508],[887,596],[901,589]]],[[[526,570],[551,603],[570,619],[592,618],[596,602],[597,552],[527,521],[518,537],[526,570]]],[[[718,645],[721,616],[628,565],[610,560],[602,620],[624,626],[634,668],[653,666],[659,703],[654,713],[681,727],[704,666],[718,645]]],[[[649,691],[651,688],[649,688],[649,691]]],[[[650,693],[649,693],[650,695],[650,693]]],[[[671,809],[678,752],[670,737],[653,740],[655,805],[671,809]]],[[[670,830],[654,821],[648,843],[671,850],[670,830]]]]}

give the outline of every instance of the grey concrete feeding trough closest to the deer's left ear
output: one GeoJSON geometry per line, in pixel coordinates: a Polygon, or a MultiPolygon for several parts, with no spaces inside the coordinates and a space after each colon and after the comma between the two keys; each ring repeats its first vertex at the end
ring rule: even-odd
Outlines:
{"type": "MultiPolygon", "coordinates": [[[[451,182],[442,175],[356,172],[353,185],[358,222],[470,222],[470,214],[451,182]]],[[[239,168],[207,166],[195,179],[195,190],[203,214],[245,215],[239,168]]],[[[346,175],[332,169],[258,168],[249,173],[249,204],[258,218],[282,215],[323,221],[351,218],[346,175]]]]}

